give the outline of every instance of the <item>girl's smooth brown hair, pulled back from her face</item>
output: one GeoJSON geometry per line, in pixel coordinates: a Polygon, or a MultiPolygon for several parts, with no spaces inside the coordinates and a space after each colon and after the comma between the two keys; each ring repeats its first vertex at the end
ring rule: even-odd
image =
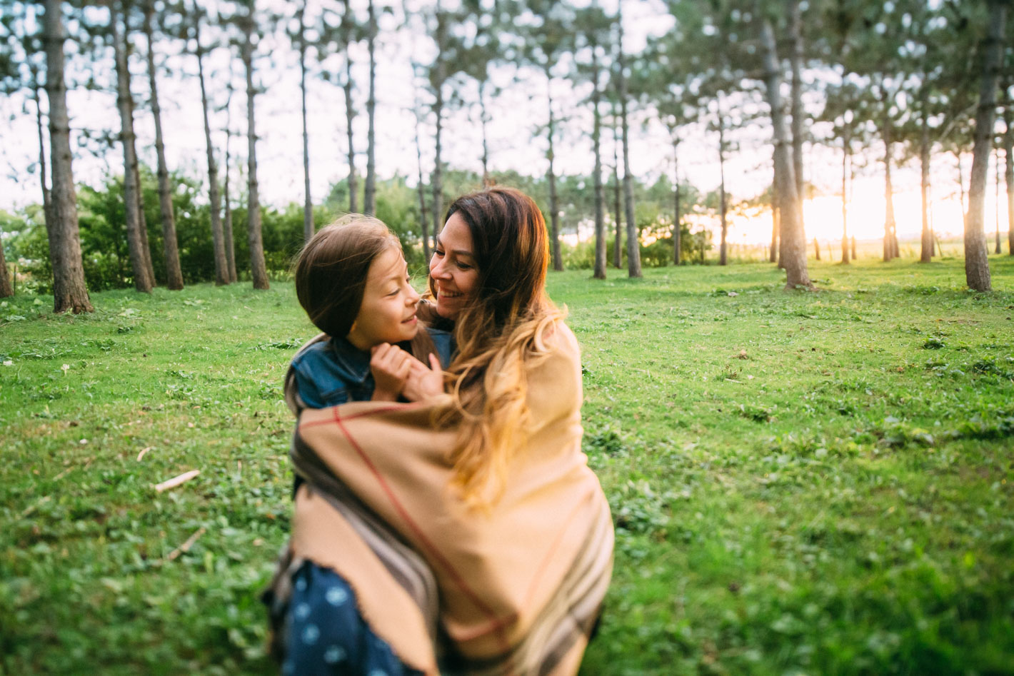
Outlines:
{"type": "Polygon", "coordinates": [[[363,302],[370,264],[397,237],[370,216],[348,214],[314,234],[296,258],[296,297],[310,321],[329,335],[345,337],[363,302]]]}

